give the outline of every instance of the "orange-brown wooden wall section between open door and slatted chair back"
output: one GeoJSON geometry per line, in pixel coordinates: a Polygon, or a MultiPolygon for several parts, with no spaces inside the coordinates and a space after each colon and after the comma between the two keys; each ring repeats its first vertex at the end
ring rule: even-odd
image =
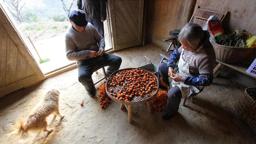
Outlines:
{"type": "Polygon", "coordinates": [[[169,32],[180,29],[193,14],[195,0],[150,0],[147,7],[146,36],[152,43],[167,48],[162,41],[170,37],[169,32]]]}

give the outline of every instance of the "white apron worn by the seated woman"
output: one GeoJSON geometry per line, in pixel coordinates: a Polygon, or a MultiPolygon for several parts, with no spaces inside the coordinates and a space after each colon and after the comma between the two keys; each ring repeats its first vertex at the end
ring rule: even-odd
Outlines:
{"type": "MultiPolygon", "coordinates": [[[[201,49],[202,49],[202,46],[199,47],[196,51],[194,51],[194,53],[189,58],[189,60],[185,62],[182,58],[182,55],[184,52],[184,49],[182,48],[182,52],[180,54],[180,60],[178,63],[179,69],[176,74],[181,75],[182,77],[185,77],[185,76],[192,77],[193,75],[189,74],[189,63],[194,58],[194,56],[198,53],[198,51],[200,51],[201,49]]],[[[180,91],[182,93],[182,98],[189,97],[190,94],[193,94],[193,93],[198,94],[200,93],[199,89],[204,88],[204,86],[189,86],[187,84],[184,84],[183,82],[175,82],[175,81],[171,81],[171,86],[172,87],[178,86],[180,88],[180,91]]]]}

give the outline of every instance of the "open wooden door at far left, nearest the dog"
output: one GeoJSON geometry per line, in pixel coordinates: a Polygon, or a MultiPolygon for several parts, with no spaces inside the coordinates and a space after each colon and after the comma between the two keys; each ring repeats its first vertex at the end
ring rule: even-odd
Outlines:
{"type": "Polygon", "coordinates": [[[10,12],[0,1],[0,98],[45,79],[33,59],[10,12]]]}

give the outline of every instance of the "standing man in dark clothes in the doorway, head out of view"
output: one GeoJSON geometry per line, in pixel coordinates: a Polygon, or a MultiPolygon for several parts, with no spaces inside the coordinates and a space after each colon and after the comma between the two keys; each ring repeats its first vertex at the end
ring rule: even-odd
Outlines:
{"type": "Polygon", "coordinates": [[[77,7],[85,12],[86,20],[104,37],[103,22],[107,15],[106,0],[77,0],[77,7]]]}

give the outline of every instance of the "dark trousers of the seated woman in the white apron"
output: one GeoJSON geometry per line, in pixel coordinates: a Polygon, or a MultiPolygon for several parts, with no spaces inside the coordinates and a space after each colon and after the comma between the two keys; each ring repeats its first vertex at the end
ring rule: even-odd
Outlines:
{"type": "MultiPolygon", "coordinates": [[[[158,67],[158,79],[160,79],[160,77],[163,77],[163,81],[169,85],[167,63],[160,63],[158,67]]],[[[161,84],[159,85],[161,86],[161,84]]],[[[171,87],[168,90],[168,99],[164,108],[164,112],[170,115],[178,112],[181,98],[182,93],[180,91],[180,88],[178,86],[171,87]]]]}

